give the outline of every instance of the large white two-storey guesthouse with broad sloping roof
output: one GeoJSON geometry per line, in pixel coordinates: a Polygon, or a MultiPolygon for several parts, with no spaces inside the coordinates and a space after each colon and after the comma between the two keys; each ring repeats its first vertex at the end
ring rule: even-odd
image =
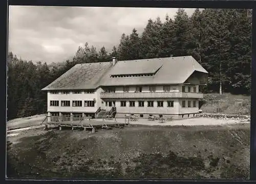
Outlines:
{"type": "Polygon", "coordinates": [[[116,117],[137,114],[195,117],[208,72],[192,57],[76,64],[43,88],[48,116],[91,116],[115,109],[116,117]],[[114,107],[114,108],[113,108],[114,107]]]}

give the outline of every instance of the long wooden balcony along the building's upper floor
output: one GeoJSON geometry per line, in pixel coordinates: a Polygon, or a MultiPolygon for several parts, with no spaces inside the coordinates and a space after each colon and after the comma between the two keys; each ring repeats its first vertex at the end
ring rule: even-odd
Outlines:
{"type": "Polygon", "coordinates": [[[100,98],[203,98],[200,93],[182,92],[141,92],[141,93],[101,93],[100,98]]]}

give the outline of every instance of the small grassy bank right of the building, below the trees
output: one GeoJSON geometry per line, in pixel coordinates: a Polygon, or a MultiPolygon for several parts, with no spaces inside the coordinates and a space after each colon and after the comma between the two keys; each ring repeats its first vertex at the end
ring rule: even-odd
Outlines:
{"type": "Polygon", "coordinates": [[[205,113],[250,114],[251,97],[231,94],[205,94],[201,109],[205,113]]]}

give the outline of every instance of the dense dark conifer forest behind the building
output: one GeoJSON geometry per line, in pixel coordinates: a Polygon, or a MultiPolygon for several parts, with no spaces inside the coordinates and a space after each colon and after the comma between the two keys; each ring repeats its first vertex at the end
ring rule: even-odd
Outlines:
{"type": "MultiPolygon", "coordinates": [[[[167,12],[168,13],[168,12],[167,12]]],[[[8,52],[8,120],[46,113],[47,94],[42,88],[77,63],[193,56],[208,72],[204,93],[250,94],[252,11],[246,9],[196,9],[188,16],[179,9],[172,19],[167,14],[149,19],[139,35],[136,28],[124,33],[112,52],[97,51],[84,40],[71,60],[47,64],[18,58],[8,52]],[[220,90],[220,86],[222,87],[220,90]]],[[[174,66],[175,67],[175,66],[174,66]]]]}

